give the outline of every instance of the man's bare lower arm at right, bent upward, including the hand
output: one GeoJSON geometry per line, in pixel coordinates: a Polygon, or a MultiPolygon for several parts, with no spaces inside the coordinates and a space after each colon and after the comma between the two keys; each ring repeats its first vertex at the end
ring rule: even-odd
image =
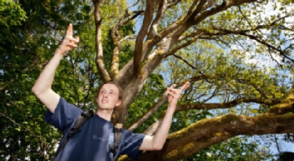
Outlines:
{"type": "Polygon", "coordinates": [[[165,145],[165,141],[167,140],[167,134],[169,132],[169,128],[172,125],[172,117],[174,115],[174,111],[176,111],[176,104],[178,103],[178,99],[181,96],[181,92],[186,90],[189,86],[189,83],[185,83],[182,85],[181,89],[176,90],[173,87],[167,87],[168,102],[169,106],[167,108],[167,113],[165,114],[165,118],[162,120],[162,125],[158,128],[158,131],[155,133],[153,137],[146,136],[141,144],[139,150],[141,151],[153,151],[153,150],[161,150],[165,145]]]}

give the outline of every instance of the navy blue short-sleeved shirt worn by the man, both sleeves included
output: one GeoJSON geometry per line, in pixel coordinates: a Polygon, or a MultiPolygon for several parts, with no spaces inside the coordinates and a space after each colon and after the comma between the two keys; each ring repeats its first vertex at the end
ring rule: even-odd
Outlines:
{"type": "MultiPolygon", "coordinates": [[[[48,110],[45,113],[45,121],[62,130],[64,133],[62,143],[82,112],[78,107],[68,104],[64,99],[60,98],[55,112],[51,113],[48,110]]],[[[69,139],[69,142],[55,161],[111,161],[108,152],[109,135],[113,132],[111,122],[95,114],[93,118],[87,120],[80,130],[80,133],[74,134],[69,139]]],[[[139,151],[139,147],[144,137],[144,134],[134,134],[128,130],[123,130],[117,156],[128,155],[129,158],[137,160],[142,153],[142,151],[139,151]]]]}

